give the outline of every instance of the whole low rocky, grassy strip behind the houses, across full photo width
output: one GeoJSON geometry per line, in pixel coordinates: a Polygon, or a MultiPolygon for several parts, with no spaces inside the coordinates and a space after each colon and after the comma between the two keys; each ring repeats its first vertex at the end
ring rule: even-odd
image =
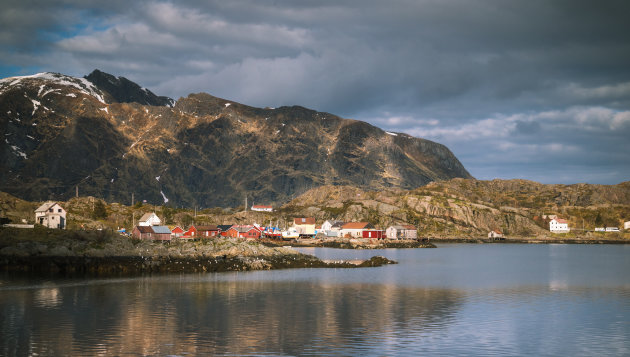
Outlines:
{"type": "MultiPolygon", "coordinates": [[[[2,223],[33,223],[33,211],[42,202],[28,202],[0,192],[2,223]]],[[[570,236],[600,237],[586,233],[595,227],[623,227],[630,220],[630,182],[619,185],[544,185],[524,180],[477,181],[453,179],[430,183],[414,190],[366,191],[350,186],[313,188],[272,213],[237,209],[176,209],[140,203],[133,207],[105,204],[97,216],[99,200],[72,198],[61,202],[68,211],[70,229],[131,228],[138,217],[156,212],[169,225],[191,224],[278,224],[286,227],[295,217],[314,217],[318,224],[327,219],[369,221],[377,227],[413,224],[421,236],[484,237],[500,230],[510,237],[549,235],[539,218],[555,214],[567,219],[570,236]]],[[[610,237],[609,237],[610,236],[610,237]]],[[[621,234],[606,234],[621,238],[621,234]]],[[[626,233],[630,238],[630,232],[626,233]]]]}

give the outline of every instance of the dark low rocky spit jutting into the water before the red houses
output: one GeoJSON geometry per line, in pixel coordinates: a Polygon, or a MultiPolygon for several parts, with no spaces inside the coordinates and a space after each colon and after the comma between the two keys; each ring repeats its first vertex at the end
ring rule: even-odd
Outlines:
{"type": "Polygon", "coordinates": [[[359,268],[395,264],[384,257],[323,261],[257,241],[207,239],[158,243],[107,231],[0,230],[0,270],[53,274],[134,275],[288,268],[359,268]]]}

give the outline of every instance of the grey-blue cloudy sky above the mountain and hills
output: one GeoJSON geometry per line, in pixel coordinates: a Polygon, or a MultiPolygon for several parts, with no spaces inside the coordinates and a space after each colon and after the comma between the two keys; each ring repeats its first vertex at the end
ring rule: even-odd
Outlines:
{"type": "Polygon", "coordinates": [[[478,179],[630,180],[630,1],[0,2],[0,77],[98,68],[448,146],[478,179]]]}

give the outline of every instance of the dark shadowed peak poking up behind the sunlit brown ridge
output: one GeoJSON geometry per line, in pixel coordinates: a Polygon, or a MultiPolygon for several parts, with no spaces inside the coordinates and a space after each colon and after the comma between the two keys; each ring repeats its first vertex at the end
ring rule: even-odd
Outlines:
{"type": "Polygon", "coordinates": [[[175,101],[169,97],[157,96],[150,90],[140,87],[138,84],[125,77],[116,77],[95,69],[85,76],[98,89],[105,92],[117,103],[139,103],[142,105],[172,107],[175,101]]]}

